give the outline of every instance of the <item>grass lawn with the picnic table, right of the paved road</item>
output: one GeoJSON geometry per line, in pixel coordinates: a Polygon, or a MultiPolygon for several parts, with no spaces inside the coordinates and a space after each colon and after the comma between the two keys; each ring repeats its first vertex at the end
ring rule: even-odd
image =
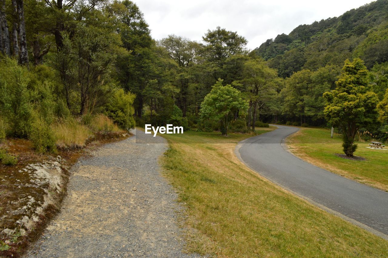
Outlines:
{"type": "Polygon", "coordinates": [[[317,166],[344,177],[388,191],[388,151],[368,149],[369,142],[357,142],[355,156],[365,161],[340,158],[342,152],[340,135],[330,138],[330,130],[301,128],[291,135],[287,144],[291,152],[317,166]]]}

